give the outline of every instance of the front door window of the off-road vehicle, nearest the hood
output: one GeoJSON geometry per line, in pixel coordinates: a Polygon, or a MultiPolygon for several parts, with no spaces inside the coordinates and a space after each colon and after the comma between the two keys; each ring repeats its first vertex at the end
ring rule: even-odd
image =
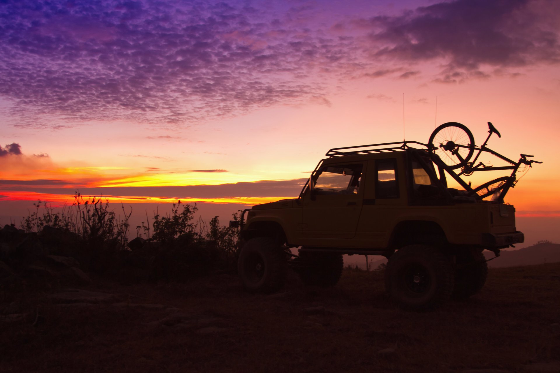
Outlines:
{"type": "Polygon", "coordinates": [[[322,167],[315,177],[316,195],[357,194],[362,178],[361,164],[322,167]]]}

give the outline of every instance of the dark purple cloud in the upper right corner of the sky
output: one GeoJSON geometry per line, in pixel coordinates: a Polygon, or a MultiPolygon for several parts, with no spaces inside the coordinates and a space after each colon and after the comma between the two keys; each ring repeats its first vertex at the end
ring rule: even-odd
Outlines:
{"type": "Polygon", "coordinates": [[[441,59],[446,63],[438,81],[449,83],[488,78],[484,68],[501,73],[560,62],[557,25],[546,19],[550,12],[558,14],[560,3],[457,0],[400,16],[372,17],[361,25],[368,23],[374,30],[374,58],[410,64],[441,59]]]}

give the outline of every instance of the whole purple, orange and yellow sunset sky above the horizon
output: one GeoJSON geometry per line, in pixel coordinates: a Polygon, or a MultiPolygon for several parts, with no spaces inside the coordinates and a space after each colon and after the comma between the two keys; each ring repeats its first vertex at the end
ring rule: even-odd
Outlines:
{"type": "Polygon", "coordinates": [[[544,162],[506,202],[552,219],[558,25],[557,0],[4,1],[0,224],[77,190],[295,197],[326,150],[402,140],[403,120],[407,140],[456,121],[477,144],[493,122],[489,147],[544,162]]]}

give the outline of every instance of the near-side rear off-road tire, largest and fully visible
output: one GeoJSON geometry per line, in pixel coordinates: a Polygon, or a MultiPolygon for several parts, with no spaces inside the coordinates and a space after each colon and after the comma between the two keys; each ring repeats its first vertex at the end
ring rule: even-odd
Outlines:
{"type": "Polygon", "coordinates": [[[430,245],[399,249],[385,270],[385,289],[405,309],[430,309],[451,298],[454,283],[451,257],[430,245]]]}

